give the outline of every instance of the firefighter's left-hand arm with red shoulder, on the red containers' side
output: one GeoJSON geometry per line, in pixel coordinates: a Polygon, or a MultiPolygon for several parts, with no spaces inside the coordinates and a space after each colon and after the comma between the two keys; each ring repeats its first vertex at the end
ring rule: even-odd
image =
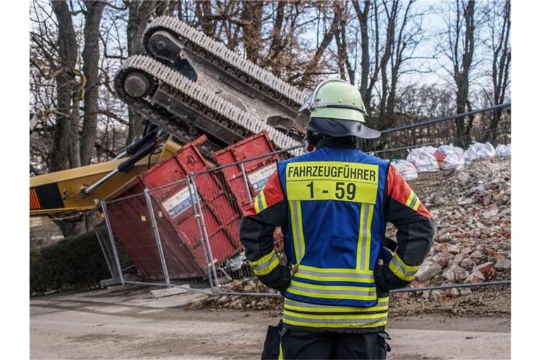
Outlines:
{"type": "Polygon", "coordinates": [[[285,290],[291,282],[290,269],[280,265],[274,251],[273,233],[276,226],[287,224],[287,203],[278,172],[254,198],[240,221],[240,241],[246,249],[251,269],[261,282],[275,290],[285,290]]]}

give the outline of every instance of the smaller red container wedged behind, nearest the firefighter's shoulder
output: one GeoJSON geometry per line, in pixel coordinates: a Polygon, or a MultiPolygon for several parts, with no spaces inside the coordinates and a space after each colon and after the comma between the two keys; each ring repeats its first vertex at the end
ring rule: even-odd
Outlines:
{"type": "MultiPolygon", "coordinates": [[[[274,151],[276,151],[276,148],[270,141],[266,131],[261,131],[259,134],[216,151],[213,155],[219,165],[228,165],[232,162],[239,162],[259,155],[273,153],[274,151]]],[[[280,160],[280,156],[275,154],[244,162],[244,171],[247,174],[251,198],[254,198],[259,193],[268,177],[275,172],[278,160],[280,160]]],[[[230,191],[237,199],[237,205],[241,209],[249,205],[249,196],[242,178],[242,167],[240,165],[225,167],[222,169],[222,173],[230,191]]]]}

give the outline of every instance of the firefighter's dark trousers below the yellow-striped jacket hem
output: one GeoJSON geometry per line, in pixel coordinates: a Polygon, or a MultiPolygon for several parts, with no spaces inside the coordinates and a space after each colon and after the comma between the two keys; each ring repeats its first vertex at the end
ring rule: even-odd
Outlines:
{"type": "MultiPolygon", "coordinates": [[[[273,327],[275,328],[275,327],[273,327]]],[[[263,349],[262,359],[386,359],[390,351],[385,331],[380,333],[334,333],[299,330],[296,328],[275,328],[280,335],[280,349],[266,341],[267,351],[274,347],[274,355],[263,349]],[[278,351],[276,351],[278,350],[278,351]]],[[[277,334],[278,335],[278,334],[277,334]]],[[[277,337],[278,338],[278,337],[277,337]]],[[[278,340],[278,339],[276,339],[278,340]]],[[[275,343],[278,341],[275,341],[275,343]]]]}

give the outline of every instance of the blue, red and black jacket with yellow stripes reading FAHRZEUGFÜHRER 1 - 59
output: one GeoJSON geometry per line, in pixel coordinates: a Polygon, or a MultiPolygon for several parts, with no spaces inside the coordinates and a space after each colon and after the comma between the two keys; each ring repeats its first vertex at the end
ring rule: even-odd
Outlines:
{"type": "Polygon", "coordinates": [[[406,286],[430,250],[430,214],[402,176],[380,158],[324,140],[317,150],[278,162],[244,211],[240,236],[254,273],[285,297],[282,320],[305,328],[380,329],[388,290],[406,286]],[[375,281],[387,221],[397,251],[375,281]],[[293,278],[278,262],[281,226],[293,278]],[[379,295],[379,297],[378,297],[379,295]]]}

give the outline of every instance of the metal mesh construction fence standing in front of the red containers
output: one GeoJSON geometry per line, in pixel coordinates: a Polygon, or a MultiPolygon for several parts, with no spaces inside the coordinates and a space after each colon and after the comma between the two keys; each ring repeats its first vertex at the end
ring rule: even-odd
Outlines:
{"type": "MultiPolygon", "coordinates": [[[[185,153],[173,157],[174,166],[173,160],[157,165],[132,181],[121,196],[101,201],[99,212],[107,233],[98,234],[98,239],[111,277],[121,284],[185,288],[210,295],[239,294],[230,284],[255,277],[240,243],[242,209],[259,193],[275,163],[289,158],[295,148],[242,160],[235,158],[234,150],[225,149],[215,154],[218,164],[225,165],[210,167],[192,146],[187,153],[183,150],[185,153]]],[[[275,232],[275,251],[285,263],[279,230],[275,232]]],[[[509,284],[495,281],[451,286],[509,284]]],[[[270,289],[242,295],[280,296],[270,289]]]]}

